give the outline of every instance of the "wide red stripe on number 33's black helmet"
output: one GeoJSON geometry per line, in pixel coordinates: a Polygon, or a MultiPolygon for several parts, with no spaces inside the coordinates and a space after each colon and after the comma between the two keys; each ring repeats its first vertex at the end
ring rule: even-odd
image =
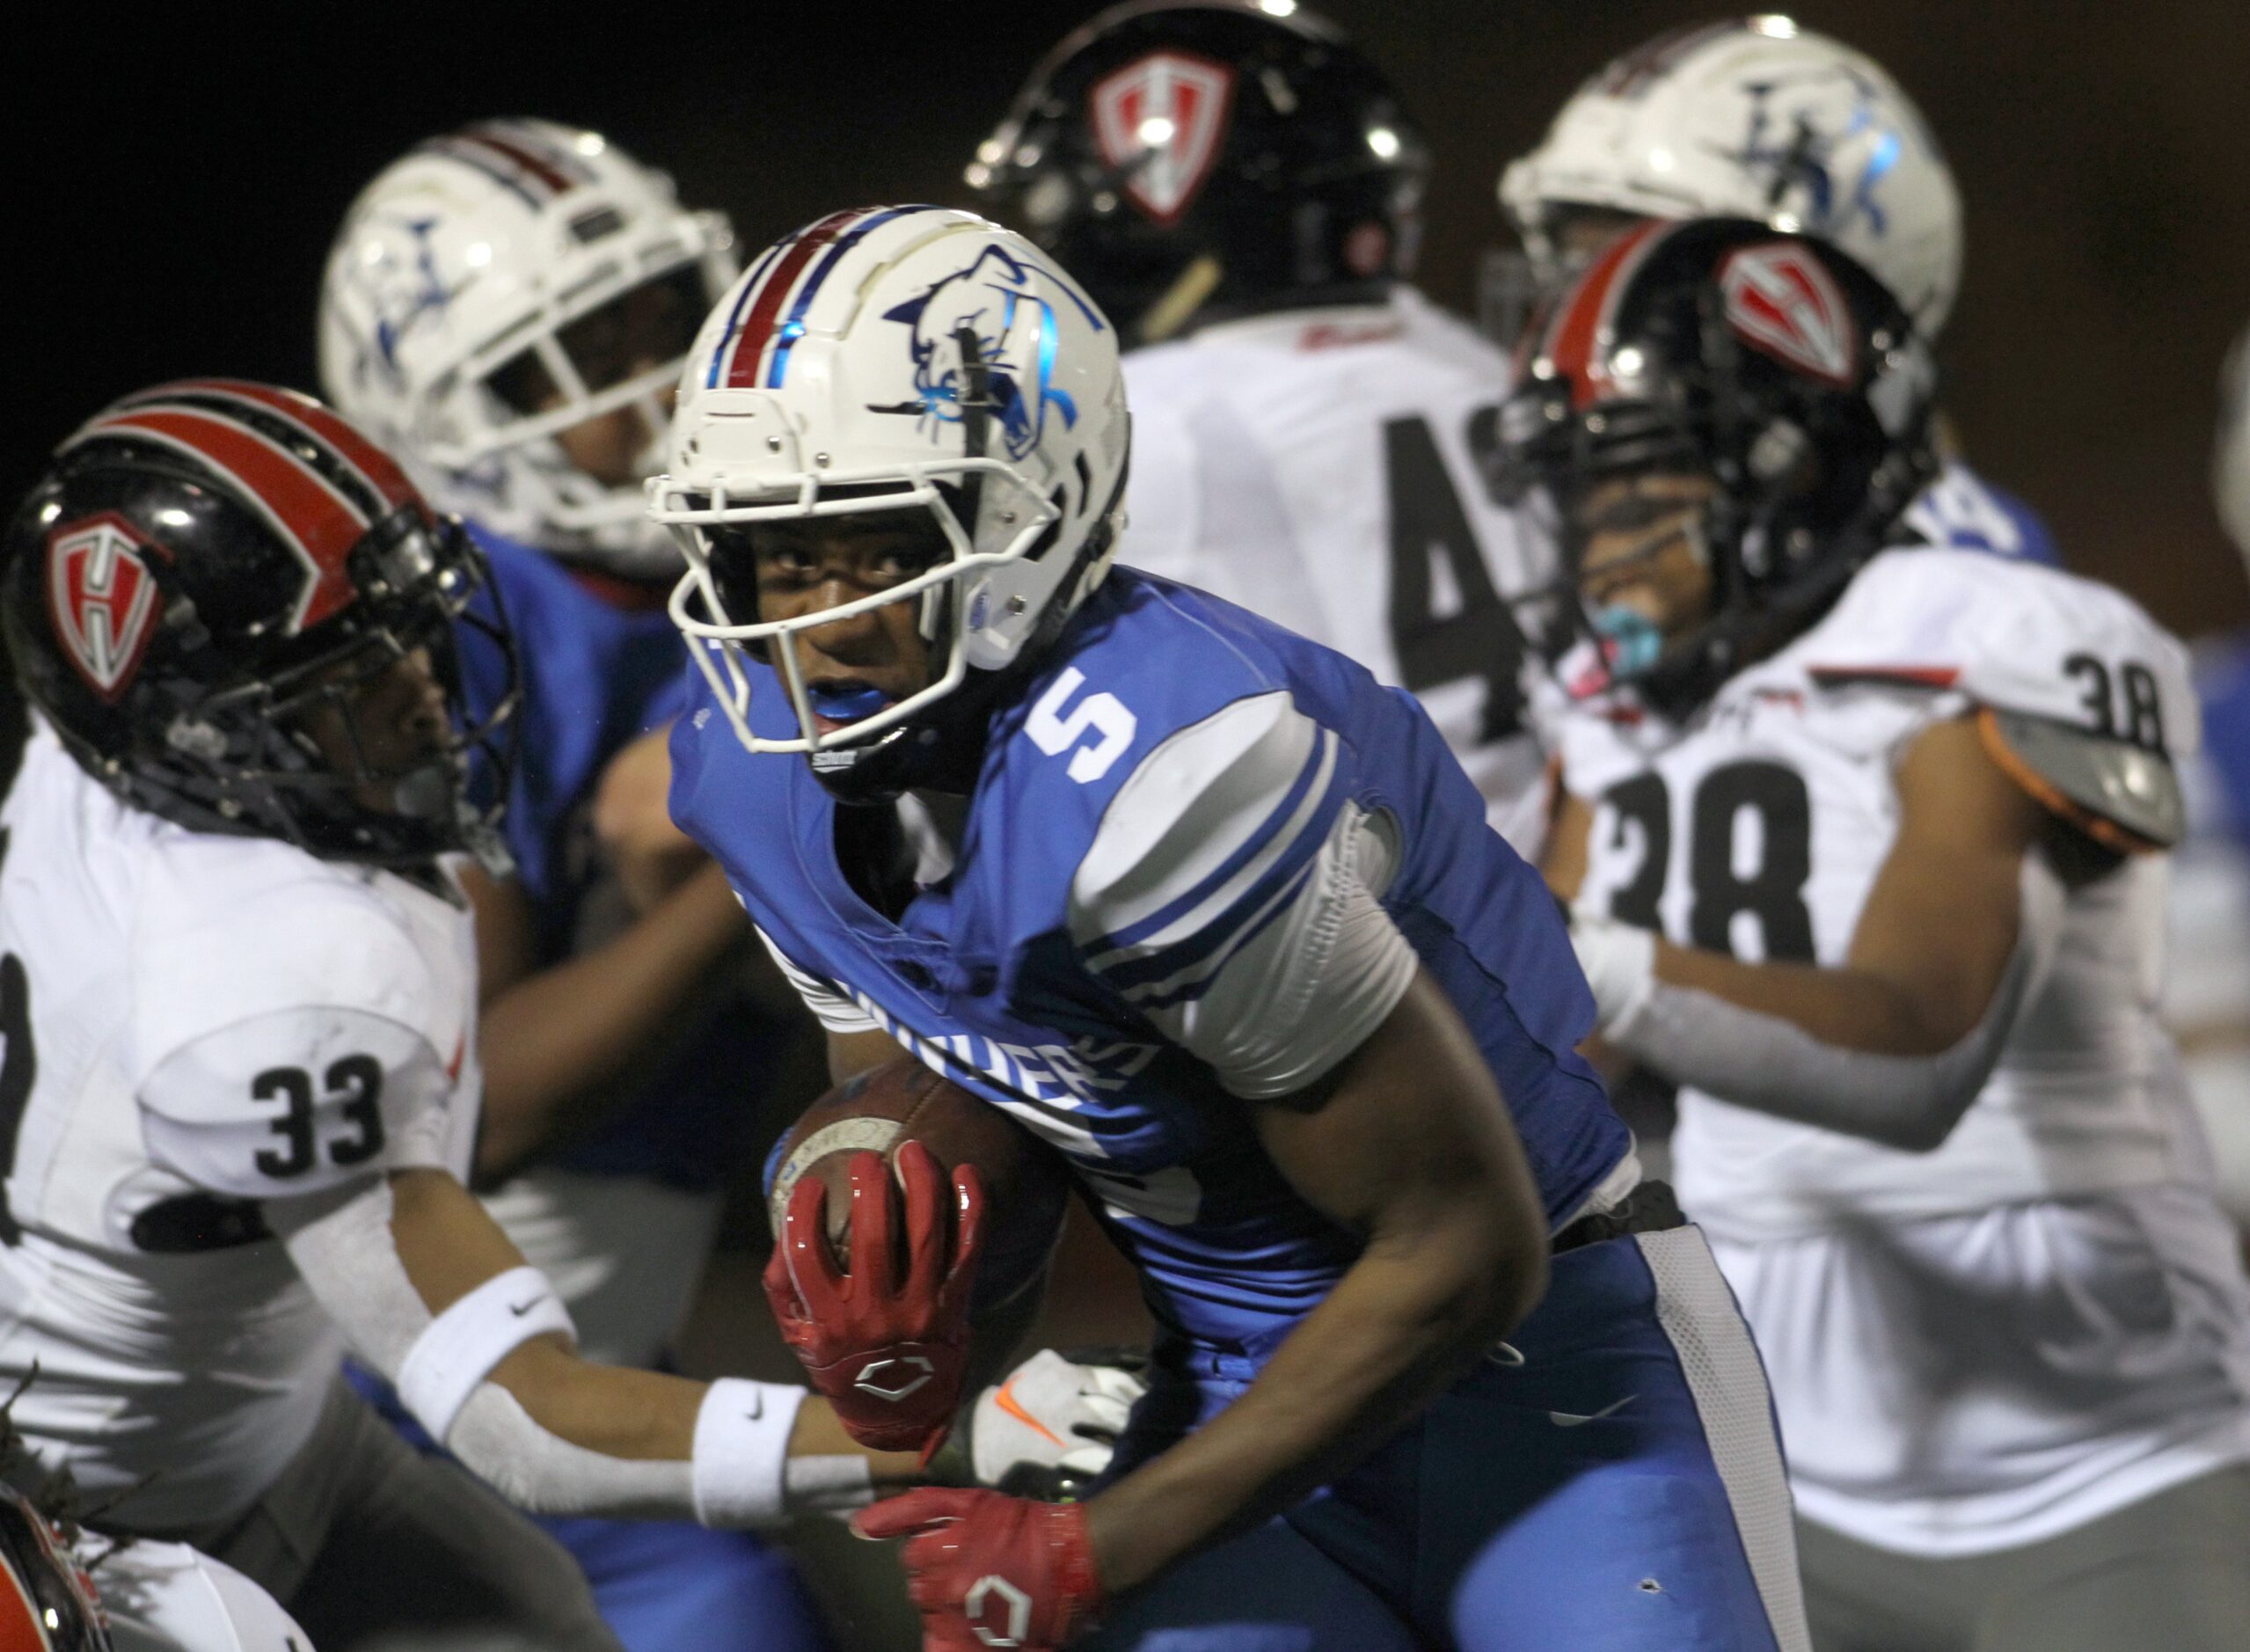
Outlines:
{"type": "Polygon", "coordinates": [[[292,635],[351,603],[344,558],[367,538],[371,522],[297,455],[223,414],[164,403],[97,419],[72,437],[72,446],[117,432],[178,448],[225,475],[256,506],[306,569],[290,614],[292,635]]]}

